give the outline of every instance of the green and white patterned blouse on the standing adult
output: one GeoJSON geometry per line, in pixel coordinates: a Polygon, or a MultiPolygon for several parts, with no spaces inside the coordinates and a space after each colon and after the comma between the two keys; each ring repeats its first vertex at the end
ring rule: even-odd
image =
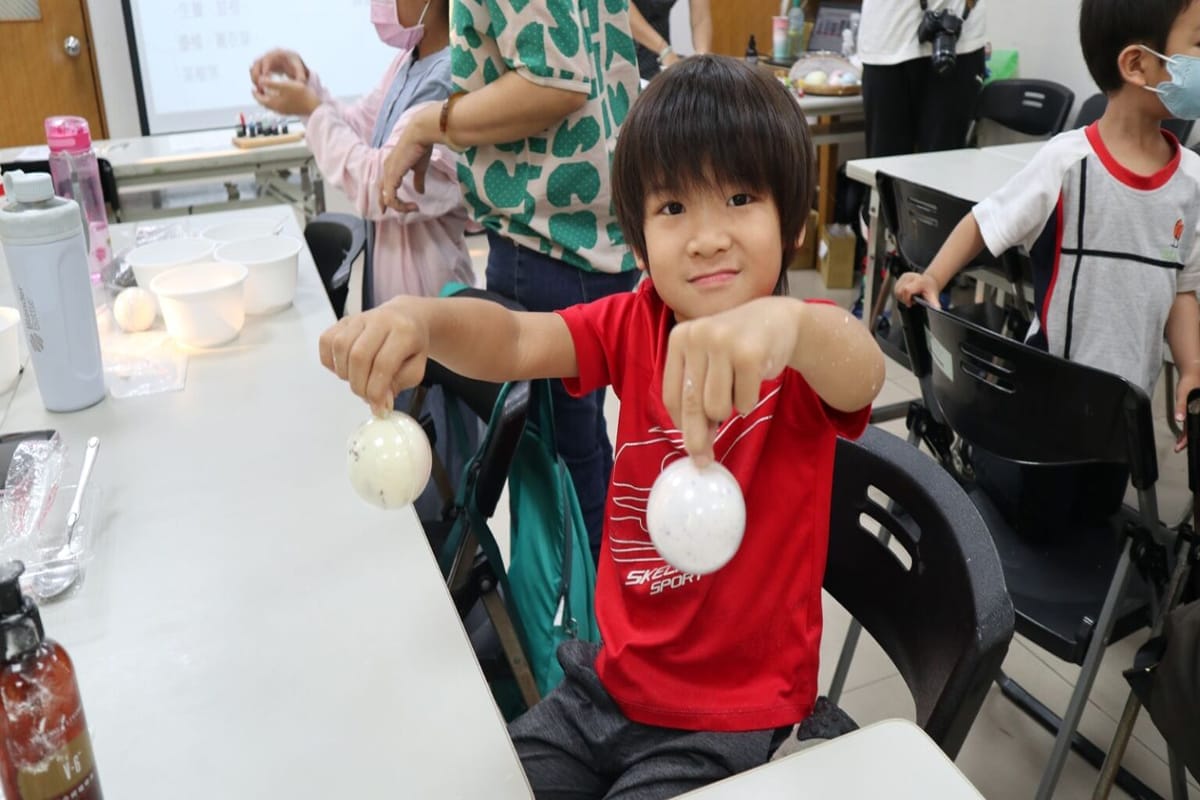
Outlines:
{"type": "Polygon", "coordinates": [[[516,71],[588,96],[538,136],[469,148],[458,160],[467,209],[485,227],[583,270],[634,269],[613,212],[612,151],[637,94],[628,0],[452,0],[455,91],[516,71]]]}

